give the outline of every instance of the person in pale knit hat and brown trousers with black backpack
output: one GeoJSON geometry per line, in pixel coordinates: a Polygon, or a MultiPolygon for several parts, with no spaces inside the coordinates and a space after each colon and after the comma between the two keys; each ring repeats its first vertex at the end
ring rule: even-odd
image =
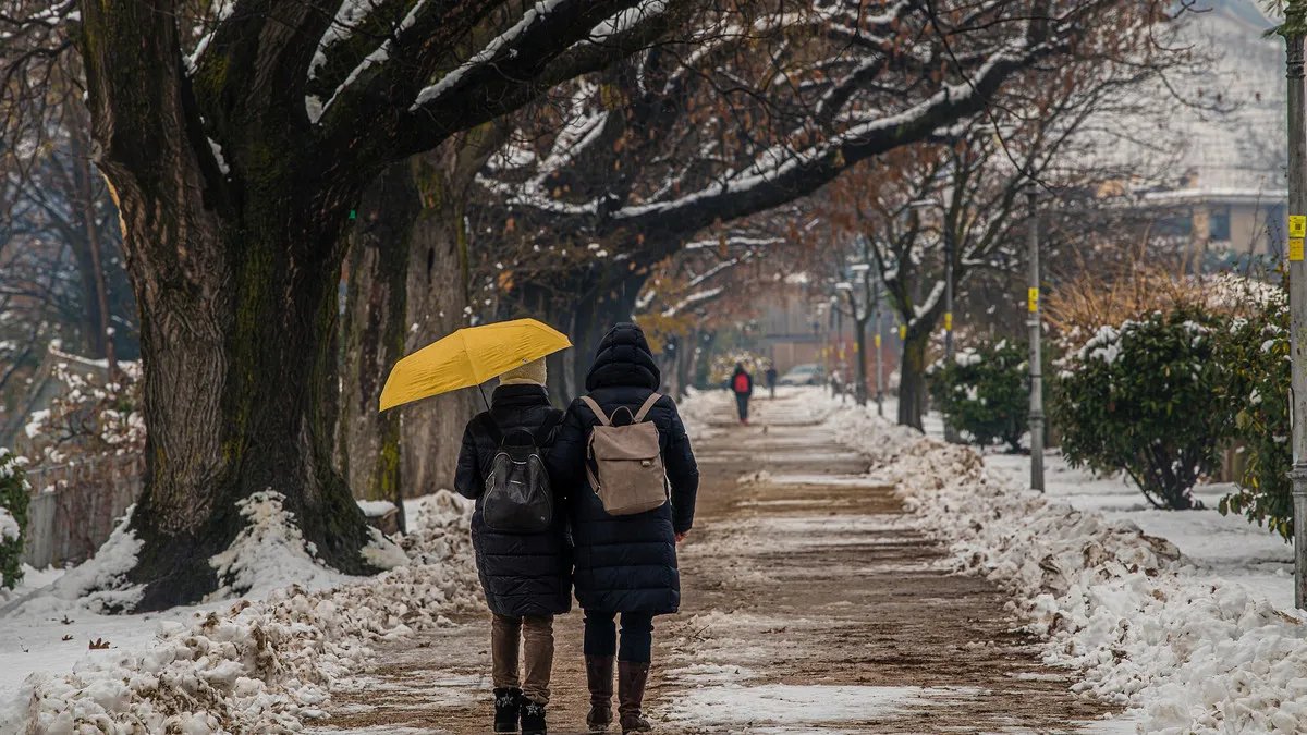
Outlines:
{"type": "Polygon", "coordinates": [[[493,615],[495,732],[546,732],[554,615],[571,609],[571,549],[565,497],[552,497],[566,487],[540,477],[541,455],[548,455],[562,417],[545,392],[541,358],[501,375],[490,409],[463,432],[454,488],[477,501],[472,547],[493,615]],[[528,470],[515,473],[515,464],[528,470]],[[527,485],[535,494],[523,494],[527,485]],[[519,649],[525,659],[520,676],[519,649]]]}

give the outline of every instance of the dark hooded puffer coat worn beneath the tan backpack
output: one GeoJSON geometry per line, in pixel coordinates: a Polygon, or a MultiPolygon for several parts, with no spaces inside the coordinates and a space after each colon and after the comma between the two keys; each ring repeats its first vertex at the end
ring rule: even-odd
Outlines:
{"type": "MultiPolygon", "coordinates": [[[[612,416],[623,405],[635,413],[660,382],[644,333],[635,324],[618,324],[600,343],[586,390],[612,416]]],[[[659,428],[672,485],[672,502],[656,510],[622,517],[604,511],[586,480],[586,445],[599,419],[579,399],[567,409],[549,454],[549,473],[571,498],[576,565],[572,581],[576,600],[586,609],[657,615],[676,612],[681,604],[674,534],[689,531],[694,523],[699,468],[670,398],[659,400],[648,420],[659,428]]]]}

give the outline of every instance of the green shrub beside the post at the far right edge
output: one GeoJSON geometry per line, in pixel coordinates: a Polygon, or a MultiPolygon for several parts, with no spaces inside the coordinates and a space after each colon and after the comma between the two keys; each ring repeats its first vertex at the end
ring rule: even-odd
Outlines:
{"type": "Polygon", "coordinates": [[[1222,395],[1246,464],[1239,488],[1221,498],[1223,514],[1242,513],[1286,540],[1293,538],[1289,470],[1289,305],[1283,292],[1263,299],[1263,313],[1235,319],[1217,340],[1225,366],[1222,395]]]}

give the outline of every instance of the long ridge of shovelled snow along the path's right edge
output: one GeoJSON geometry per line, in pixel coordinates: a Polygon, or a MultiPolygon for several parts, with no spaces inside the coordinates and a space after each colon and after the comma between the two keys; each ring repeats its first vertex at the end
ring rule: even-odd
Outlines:
{"type": "Polygon", "coordinates": [[[1214,581],[1128,519],[1023,489],[971,449],[856,408],[830,420],[898,484],[915,523],[950,544],[958,570],[1013,592],[1046,660],[1082,672],[1077,691],[1131,708],[1148,732],[1307,730],[1298,615],[1214,581]]]}

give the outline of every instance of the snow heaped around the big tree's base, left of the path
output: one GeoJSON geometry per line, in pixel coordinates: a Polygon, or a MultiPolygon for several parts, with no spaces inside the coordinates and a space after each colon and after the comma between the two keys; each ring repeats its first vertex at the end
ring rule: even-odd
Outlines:
{"type": "Polygon", "coordinates": [[[0,650],[0,663],[24,679],[0,691],[0,734],[297,731],[324,715],[331,683],[365,666],[370,643],[447,625],[447,613],[476,604],[471,504],[461,498],[442,492],[414,504],[404,555],[391,547],[391,558],[378,560],[397,566],[372,578],[322,568],[274,501],[252,498],[254,524],[214,560],[247,590],[242,599],[158,616],[99,615],[116,600],[81,591],[88,577],[112,574],[118,556],[133,556],[119,531],[106,547],[120,555],[101,553],[9,603],[0,626],[20,641],[0,650]],[[281,586],[290,581],[301,583],[281,586]],[[61,640],[51,628],[60,621],[61,640]],[[115,630],[106,649],[76,653],[102,628],[115,630]]]}

